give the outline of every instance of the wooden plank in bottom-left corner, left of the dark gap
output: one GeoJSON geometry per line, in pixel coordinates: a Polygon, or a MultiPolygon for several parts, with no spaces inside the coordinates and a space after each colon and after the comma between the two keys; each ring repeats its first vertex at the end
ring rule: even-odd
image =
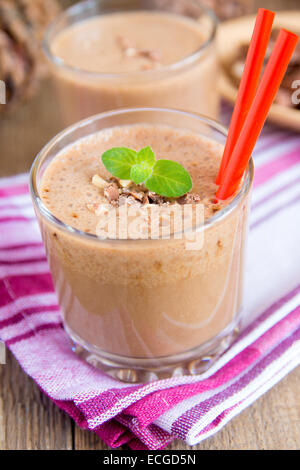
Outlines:
{"type": "Polygon", "coordinates": [[[24,374],[12,354],[0,365],[0,450],[72,449],[73,422],[24,374]]]}

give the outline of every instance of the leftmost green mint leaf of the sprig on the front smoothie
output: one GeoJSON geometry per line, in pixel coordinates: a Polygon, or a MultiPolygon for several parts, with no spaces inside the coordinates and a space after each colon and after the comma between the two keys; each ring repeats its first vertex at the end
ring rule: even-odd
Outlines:
{"type": "Polygon", "coordinates": [[[137,163],[137,152],[126,147],[114,147],[103,153],[102,162],[113,176],[129,180],[131,167],[137,163]]]}

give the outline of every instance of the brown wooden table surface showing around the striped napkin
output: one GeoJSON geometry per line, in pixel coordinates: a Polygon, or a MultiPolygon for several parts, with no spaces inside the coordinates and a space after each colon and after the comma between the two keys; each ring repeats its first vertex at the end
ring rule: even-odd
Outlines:
{"type": "MultiPolygon", "coordinates": [[[[299,7],[299,0],[289,4],[299,7]]],[[[270,6],[272,2],[258,2],[270,6]]],[[[285,3],[282,2],[281,3],[285,3]]],[[[278,4],[278,0],[277,0],[278,4]]],[[[60,128],[51,87],[8,118],[0,117],[0,176],[27,171],[39,149],[60,128]]],[[[193,449],[299,449],[300,367],[215,436],[193,449]]],[[[7,353],[0,365],[0,450],[108,449],[60,411],[7,353]]],[[[175,441],[169,449],[189,449],[175,441]]]]}

